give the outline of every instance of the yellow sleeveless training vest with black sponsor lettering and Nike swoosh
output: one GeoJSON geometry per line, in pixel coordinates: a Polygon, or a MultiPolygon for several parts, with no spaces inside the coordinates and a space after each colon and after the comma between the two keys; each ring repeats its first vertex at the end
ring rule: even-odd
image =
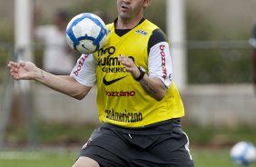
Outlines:
{"type": "Polygon", "coordinates": [[[129,56],[136,65],[143,66],[147,74],[148,41],[157,28],[144,20],[120,37],[115,34],[113,24],[107,25],[108,40],[103,49],[94,53],[97,61],[97,107],[102,123],[141,127],[184,115],[182,100],[173,82],[162,101],[157,102],[117,61],[120,54],[129,56]]]}

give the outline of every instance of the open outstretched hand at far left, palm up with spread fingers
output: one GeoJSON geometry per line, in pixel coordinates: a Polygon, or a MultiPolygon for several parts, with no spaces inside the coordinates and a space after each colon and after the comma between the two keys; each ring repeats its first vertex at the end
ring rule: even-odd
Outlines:
{"type": "Polygon", "coordinates": [[[36,66],[31,62],[21,61],[19,63],[9,62],[7,65],[10,75],[15,80],[31,80],[35,77],[36,66]]]}

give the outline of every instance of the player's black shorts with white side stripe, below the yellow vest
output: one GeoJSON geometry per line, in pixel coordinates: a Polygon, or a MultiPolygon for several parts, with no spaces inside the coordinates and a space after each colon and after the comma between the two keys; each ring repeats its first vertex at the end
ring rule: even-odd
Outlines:
{"type": "Polygon", "coordinates": [[[103,123],[80,156],[94,159],[101,167],[194,166],[179,119],[135,129],[103,123]]]}

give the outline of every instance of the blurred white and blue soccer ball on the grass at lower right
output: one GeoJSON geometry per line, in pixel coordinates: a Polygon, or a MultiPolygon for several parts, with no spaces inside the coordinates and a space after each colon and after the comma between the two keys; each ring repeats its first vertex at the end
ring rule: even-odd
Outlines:
{"type": "Polygon", "coordinates": [[[237,142],[231,148],[231,160],[240,165],[249,165],[256,160],[256,149],[251,142],[237,142]]]}

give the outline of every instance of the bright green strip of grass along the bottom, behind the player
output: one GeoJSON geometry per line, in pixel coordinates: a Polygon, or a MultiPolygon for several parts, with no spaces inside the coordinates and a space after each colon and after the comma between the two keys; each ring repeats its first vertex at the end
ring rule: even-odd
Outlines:
{"type": "MultiPolygon", "coordinates": [[[[0,152],[1,167],[70,167],[77,152],[0,152]]],[[[192,149],[196,167],[235,167],[229,149],[192,149]]],[[[256,167],[256,163],[250,167],[256,167]]]]}

